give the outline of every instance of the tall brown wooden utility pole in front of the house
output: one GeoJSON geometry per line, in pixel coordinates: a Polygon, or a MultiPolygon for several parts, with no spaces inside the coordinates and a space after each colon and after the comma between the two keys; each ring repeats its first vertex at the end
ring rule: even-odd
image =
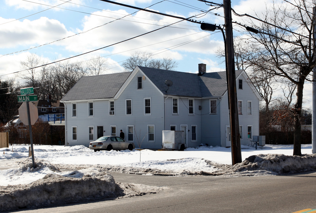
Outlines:
{"type": "Polygon", "coordinates": [[[241,147],[239,136],[239,120],[237,106],[236,74],[234,61],[233,25],[230,0],[223,0],[225,32],[226,32],[226,62],[227,62],[227,83],[228,83],[228,104],[230,141],[232,152],[232,165],[241,163],[241,147]]]}

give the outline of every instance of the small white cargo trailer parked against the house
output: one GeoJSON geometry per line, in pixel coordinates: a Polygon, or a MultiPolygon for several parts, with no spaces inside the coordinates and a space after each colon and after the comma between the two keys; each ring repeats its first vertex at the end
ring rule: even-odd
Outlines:
{"type": "Polygon", "coordinates": [[[185,132],[184,131],[162,131],[162,148],[164,149],[185,149],[185,132]]]}

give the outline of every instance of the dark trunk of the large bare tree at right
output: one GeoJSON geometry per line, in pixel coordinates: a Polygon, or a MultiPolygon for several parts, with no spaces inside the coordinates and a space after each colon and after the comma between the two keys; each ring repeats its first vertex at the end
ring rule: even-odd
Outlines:
{"type": "Polygon", "coordinates": [[[294,109],[294,146],[293,155],[301,156],[301,112],[303,103],[304,80],[297,84],[296,98],[297,102],[294,109]]]}

